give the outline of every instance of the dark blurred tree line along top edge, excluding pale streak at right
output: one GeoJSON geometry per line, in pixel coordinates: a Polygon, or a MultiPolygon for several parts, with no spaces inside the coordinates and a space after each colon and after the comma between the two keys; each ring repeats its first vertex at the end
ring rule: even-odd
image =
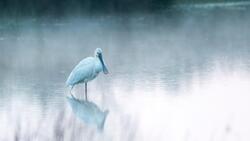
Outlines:
{"type": "Polygon", "coordinates": [[[154,11],[176,3],[224,2],[229,0],[1,0],[3,15],[64,15],[93,12],[154,11]]]}

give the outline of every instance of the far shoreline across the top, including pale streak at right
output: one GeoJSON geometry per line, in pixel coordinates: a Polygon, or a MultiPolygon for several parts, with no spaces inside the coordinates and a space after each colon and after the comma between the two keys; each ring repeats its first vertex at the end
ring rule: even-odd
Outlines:
{"type": "Polygon", "coordinates": [[[0,2],[3,16],[67,16],[89,14],[154,13],[178,8],[211,8],[250,5],[249,0],[4,0],[0,2]]]}

